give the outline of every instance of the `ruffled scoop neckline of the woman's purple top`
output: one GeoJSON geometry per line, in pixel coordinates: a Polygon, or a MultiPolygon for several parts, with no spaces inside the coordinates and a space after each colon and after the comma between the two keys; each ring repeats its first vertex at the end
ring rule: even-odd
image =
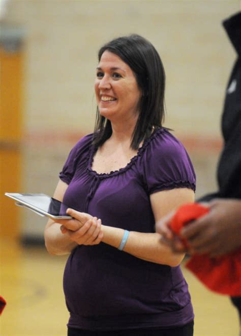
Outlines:
{"type": "Polygon", "coordinates": [[[149,143],[154,139],[159,133],[161,133],[164,130],[163,127],[157,128],[154,130],[154,132],[143,142],[143,145],[138,149],[136,155],[134,155],[131,160],[127,163],[125,167],[122,167],[115,171],[110,171],[109,173],[97,173],[95,170],[92,169],[92,164],[94,161],[94,155],[97,151],[97,149],[92,146],[91,150],[89,151],[89,157],[88,157],[88,165],[87,165],[87,171],[94,175],[97,178],[105,179],[108,177],[116,176],[119,174],[125,173],[127,170],[130,169],[130,167],[136,162],[136,160],[141,157],[146,149],[146,147],[149,145],[149,143]]]}

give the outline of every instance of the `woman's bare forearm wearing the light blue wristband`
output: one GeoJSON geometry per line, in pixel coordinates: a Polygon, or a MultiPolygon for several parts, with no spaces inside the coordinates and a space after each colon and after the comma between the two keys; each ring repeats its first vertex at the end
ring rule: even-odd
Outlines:
{"type": "MultiPolygon", "coordinates": [[[[102,225],[104,236],[102,241],[118,248],[122,241],[124,230],[102,225]]],[[[173,253],[171,248],[160,242],[158,233],[141,233],[131,231],[123,251],[146,261],[177,266],[184,254],[173,253]]]]}

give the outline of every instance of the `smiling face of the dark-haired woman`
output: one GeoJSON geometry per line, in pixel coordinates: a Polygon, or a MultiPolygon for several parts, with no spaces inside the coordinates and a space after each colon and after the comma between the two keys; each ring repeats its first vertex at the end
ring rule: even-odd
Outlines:
{"type": "Polygon", "coordinates": [[[135,75],[129,65],[108,50],[97,67],[95,92],[101,116],[122,122],[138,118],[141,91],[135,75]]]}

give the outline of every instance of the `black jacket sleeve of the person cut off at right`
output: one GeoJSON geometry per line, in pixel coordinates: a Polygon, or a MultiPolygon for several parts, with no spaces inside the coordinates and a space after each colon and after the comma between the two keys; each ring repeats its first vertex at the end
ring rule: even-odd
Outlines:
{"type": "Polygon", "coordinates": [[[237,60],[228,82],[222,116],[224,147],[218,165],[219,190],[199,201],[241,199],[241,12],[225,20],[223,25],[236,50],[237,60]]]}

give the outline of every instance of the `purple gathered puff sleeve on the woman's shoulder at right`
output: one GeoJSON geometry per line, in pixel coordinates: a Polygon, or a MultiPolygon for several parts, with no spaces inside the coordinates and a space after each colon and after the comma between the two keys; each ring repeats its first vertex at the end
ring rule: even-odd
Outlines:
{"type": "Polygon", "coordinates": [[[196,177],[183,144],[166,129],[149,139],[143,156],[143,179],[149,194],[174,188],[195,191],[196,177]]]}

